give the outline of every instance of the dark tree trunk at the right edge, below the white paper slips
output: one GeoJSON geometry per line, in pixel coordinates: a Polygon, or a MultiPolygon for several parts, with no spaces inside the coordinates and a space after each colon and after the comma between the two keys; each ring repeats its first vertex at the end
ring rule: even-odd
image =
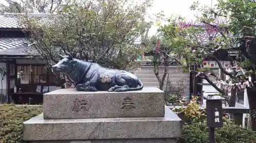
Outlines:
{"type": "MultiPolygon", "coordinates": [[[[249,101],[249,108],[250,108],[250,117],[252,115],[252,111],[256,109],[256,87],[254,85],[253,88],[247,88],[247,96],[249,101]]],[[[251,117],[251,129],[252,131],[256,131],[256,118],[251,117]]]]}

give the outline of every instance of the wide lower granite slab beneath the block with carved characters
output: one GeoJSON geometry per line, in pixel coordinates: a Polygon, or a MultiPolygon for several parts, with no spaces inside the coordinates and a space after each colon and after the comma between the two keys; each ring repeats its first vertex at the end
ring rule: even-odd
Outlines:
{"type": "Polygon", "coordinates": [[[165,106],[164,117],[44,119],[38,115],[23,125],[24,140],[91,140],[179,138],[181,119],[165,106]]]}

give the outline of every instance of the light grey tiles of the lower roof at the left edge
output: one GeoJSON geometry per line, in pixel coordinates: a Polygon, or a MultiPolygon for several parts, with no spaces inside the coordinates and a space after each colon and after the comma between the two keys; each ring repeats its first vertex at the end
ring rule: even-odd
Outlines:
{"type": "Polygon", "coordinates": [[[27,38],[0,38],[0,50],[20,47],[26,43],[27,38]]]}

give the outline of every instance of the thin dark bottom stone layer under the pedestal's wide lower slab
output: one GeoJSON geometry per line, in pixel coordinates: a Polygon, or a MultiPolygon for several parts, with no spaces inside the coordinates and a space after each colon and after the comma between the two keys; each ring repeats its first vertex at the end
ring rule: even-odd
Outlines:
{"type": "Polygon", "coordinates": [[[31,143],[176,143],[175,138],[30,141],[31,143]]]}

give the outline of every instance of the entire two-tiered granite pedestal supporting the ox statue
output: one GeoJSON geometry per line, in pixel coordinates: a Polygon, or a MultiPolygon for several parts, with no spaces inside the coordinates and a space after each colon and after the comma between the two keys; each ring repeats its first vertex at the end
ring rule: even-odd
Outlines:
{"type": "Polygon", "coordinates": [[[24,122],[23,128],[24,140],[32,143],[175,143],[182,136],[181,119],[164,105],[157,88],[54,91],[44,95],[44,113],[24,122]]]}

